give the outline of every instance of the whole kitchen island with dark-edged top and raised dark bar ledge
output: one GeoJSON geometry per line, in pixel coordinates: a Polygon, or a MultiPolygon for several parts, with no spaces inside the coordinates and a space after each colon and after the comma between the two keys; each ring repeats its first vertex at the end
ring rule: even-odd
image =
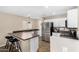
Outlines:
{"type": "Polygon", "coordinates": [[[13,31],[9,35],[19,40],[22,52],[36,52],[39,48],[38,29],[13,31]]]}

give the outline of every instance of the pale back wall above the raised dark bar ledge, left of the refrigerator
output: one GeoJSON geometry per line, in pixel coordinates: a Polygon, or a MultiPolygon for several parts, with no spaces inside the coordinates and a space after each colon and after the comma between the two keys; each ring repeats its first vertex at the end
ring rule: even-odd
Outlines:
{"type": "Polygon", "coordinates": [[[22,22],[23,29],[39,29],[40,21],[40,19],[25,19],[22,22]]]}

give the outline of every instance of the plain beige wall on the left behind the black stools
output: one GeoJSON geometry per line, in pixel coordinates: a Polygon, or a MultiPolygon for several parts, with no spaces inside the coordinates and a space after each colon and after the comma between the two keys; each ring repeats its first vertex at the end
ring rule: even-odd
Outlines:
{"type": "Polygon", "coordinates": [[[22,29],[23,19],[23,17],[0,13],[0,46],[5,45],[7,33],[22,29]]]}

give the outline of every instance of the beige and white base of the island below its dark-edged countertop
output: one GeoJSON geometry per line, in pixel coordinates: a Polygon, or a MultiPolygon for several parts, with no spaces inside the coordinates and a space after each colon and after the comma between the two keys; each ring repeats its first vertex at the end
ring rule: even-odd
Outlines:
{"type": "Polygon", "coordinates": [[[37,52],[39,48],[39,37],[35,37],[29,40],[20,41],[22,52],[37,52]]]}

